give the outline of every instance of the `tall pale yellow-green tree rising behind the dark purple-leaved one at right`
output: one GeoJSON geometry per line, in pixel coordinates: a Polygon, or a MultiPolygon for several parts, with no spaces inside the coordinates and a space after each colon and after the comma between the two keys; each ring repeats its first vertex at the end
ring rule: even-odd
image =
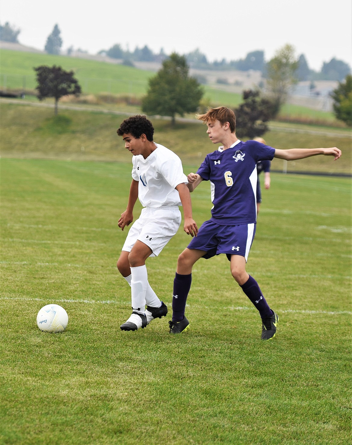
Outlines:
{"type": "Polygon", "coordinates": [[[298,82],[296,75],[298,64],[295,50],[289,44],[278,49],[274,57],[267,63],[267,87],[279,106],[285,103],[291,87],[298,82]]]}

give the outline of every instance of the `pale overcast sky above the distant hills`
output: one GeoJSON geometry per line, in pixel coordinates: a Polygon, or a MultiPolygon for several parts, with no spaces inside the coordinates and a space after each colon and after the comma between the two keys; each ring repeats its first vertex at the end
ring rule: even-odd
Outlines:
{"type": "Polygon", "coordinates": [[[289,43],[316,71],[332,57],[352,65],[351,0],[1,0],[0,23],[7,21],[37,49],[57,23],[62,49],[91,54],[119,43],[166,54],[198,48],[210,62],[260,49],[268,61],[289,43]]]}

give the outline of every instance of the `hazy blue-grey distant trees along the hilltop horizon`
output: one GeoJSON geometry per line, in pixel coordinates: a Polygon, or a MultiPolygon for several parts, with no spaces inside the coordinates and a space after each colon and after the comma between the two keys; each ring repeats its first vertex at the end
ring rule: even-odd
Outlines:
{"type": "MultiPolygon", "coordinates": [[[[4,25],[0,24],[0,40],[16,42],[18,43],[18,35],[20,29],[16,29],[14,26],[6,22],[4,25]]],[[[45,43],[45,51],[49,54],[60,54],[62,48],[61,32],[58,24],[55,24],[51,34],[47,37],[45,43]]],[[[67,49],[67,54],[70,55],[74,51],[71,46],[67,49]]],[[[78,52],[84,52],[81,49],[78,52]]],[[[159,53],[153,53],[153,51],[145,45],[143,48],[136,47],[134,51],[129,49],[124,50],[121,44],[116,43],[109,49],[102,49],[98,54],[106,54],[108,57],[119,59],[124,65],[133,66],[134,62],[159,62],[162,63],[169,56],[160,49],[159,53]]],[[[194,69],[216,69],[216,70],[239,70],[260,71],[264,78],[268,77],[268,70],[270,69],[270,62],[265,61],[265,54],[262,50],[256,50],[249,52],[244,59],[226,61],[222,59],[220,61],[209,62],[205,54],[201,53],[199,49],[187,53],[184,55],[186,62],[190,68],[194,69]]],[[[297,67],[295,71],[295,77],[298,81],[317,81],[317,80],[332,80],[342,81],[348,74],[351,74],[350,66],[342,61],[333,57],[330,61],[324,62],[320,72],[314,71],[309,68],[308,62],[304,54],[301,54],[297,58],[297,67]]],[[[200,83],[205,83],[205,78],[198,78],[200,83]]]]}

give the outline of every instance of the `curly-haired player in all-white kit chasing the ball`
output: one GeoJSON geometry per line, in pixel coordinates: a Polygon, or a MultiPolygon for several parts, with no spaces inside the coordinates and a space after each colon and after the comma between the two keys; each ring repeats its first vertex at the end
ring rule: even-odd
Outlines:
{"type": "Polygon", "coordinates": [[[150,256],[158,256],[178,231],[182,219],[178,206],[183,206],[184,231],[197,236],[198,227],[192,218],[188,179],[181,159],[153,141],[152,123],[145,116],[131,116],[122,122],[117,134],[133,154],[130,194],[119,227],[123,230],[133,221],[137,198],[143,206],[117,262],[119,272],[131,286],[132,300],[132,315],[120,328],[135,331],[167,314],[166,304],[150,287],[145,262],[150,256]]]}

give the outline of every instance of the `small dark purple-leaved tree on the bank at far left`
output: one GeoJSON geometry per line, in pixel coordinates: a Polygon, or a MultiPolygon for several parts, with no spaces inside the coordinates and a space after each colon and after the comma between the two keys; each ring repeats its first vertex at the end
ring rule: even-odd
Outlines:
{"type": "Polygon", "coordinates": [[[38,85],[38,99],[42,101],[46,97],[55,98],[55,116],[60,97],[67,94],[79,96],[81,87],[75,79],[73,71],[65,71],[60,66],[40,65],[34,68],[38,85]]]}

